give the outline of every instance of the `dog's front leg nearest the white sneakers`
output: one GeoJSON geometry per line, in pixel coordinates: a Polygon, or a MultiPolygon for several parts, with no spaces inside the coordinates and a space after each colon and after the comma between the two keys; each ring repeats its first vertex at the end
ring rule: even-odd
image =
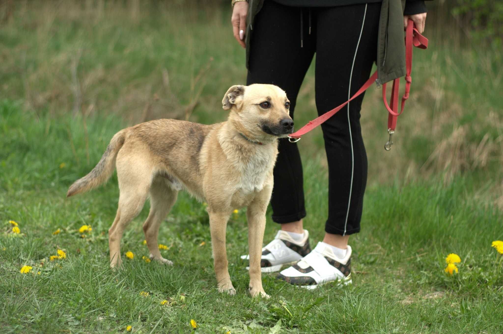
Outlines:
{"type": "Polygon", "coordinates": [[[248,254],[250,257],[249,275],[250,283],[248,291],[252,297],[261,295],[269,298],[262,287],[262,243],[264,241],[264,229],[266,228],[266,210],[269,201],[258,199],[248,206],[246,218],[248,220],[248,254]]]}

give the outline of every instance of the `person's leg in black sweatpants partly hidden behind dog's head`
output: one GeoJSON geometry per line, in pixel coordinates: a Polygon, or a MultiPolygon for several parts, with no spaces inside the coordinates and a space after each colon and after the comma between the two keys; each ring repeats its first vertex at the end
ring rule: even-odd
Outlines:
{"type": "MultiPolygon", "coordinates": [[[[294,118],[297,94],[312,61],[314,32],[309,35],[309,11],[266,1],[254,23],[246,84],[274,84],[286,91],[294,118]],[[304,22],[301,47],[301,16],[304,22]]],[[[302,163],[297,144],[279,140],[271,199],[273,221],[282,230],[303,233],[305,217],[302,163]]]]}

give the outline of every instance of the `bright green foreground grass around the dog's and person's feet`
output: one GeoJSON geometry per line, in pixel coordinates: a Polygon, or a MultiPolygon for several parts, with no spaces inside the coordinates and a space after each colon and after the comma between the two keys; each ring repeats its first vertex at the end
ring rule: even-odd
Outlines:
{"type": "MultiPolygon", "coordinates": [[[[98,161],[122,127],[114,117],[34,119],[17,103],[0,104],[0,324],[3,332],[487,332],[503,330],[501,256],[490,243],[503,239],[501,213],[474,200],[474,182],[395,181],[372,186],[365,198],[363,231],[351,240],[354,285],[306,291],[264,275],[270,300],[246,294],[244,212],[227,229],[229,271],[236,296],[219,294],[204,206],[182,195],[161,226],[159,242],[173,267],[146,263],[141,230],[148,205],[126,231],[132,251],[119,271],[108,268],[107,230],[115,216],[116,178],[92,193],[65,199],[67,187],[98,161]],[[75,152],[69,147],[69,135],[75,152]],[[89,163],[86,144],[89,141],[89,163]],[[58,149],[54,149],[57,147],[58,149]],[[77,159],[79,157],[79,159],[77,159]],[[9,233],[9,220],[21,235],[9,233]],[[81,238],[80,226],[93,230],[81,238]],[[57,235],[52,233],[60,229],[57,235]],[[50,261],[57,249],[66,259],[50,261]],[[459,274],[444,273],[444,258],[462,258],[459,274]],[[33,267],[22,274],[23,265],[33,267]],[[40,275],[37,275],[40,272],[40,275]],[[144,297],[140,292],[148,292],[144,297]],[[162,300],[168,302],[161,305],[162,300]],[[281,321],[280,321],[281,320],[281,321]],[[280,321],[280,322],[279,322],[280,321]],[[277,331],[275,331],[277,330],[277,331]]],[[[309,194],[306,228],[322,238],[326,175],[321,158],[305,166],[309,194]]],[[[439,180],[436,180],[439,181],[439,180]]],[[[277,229],[268,217],[266,239],[277,229]]]]}

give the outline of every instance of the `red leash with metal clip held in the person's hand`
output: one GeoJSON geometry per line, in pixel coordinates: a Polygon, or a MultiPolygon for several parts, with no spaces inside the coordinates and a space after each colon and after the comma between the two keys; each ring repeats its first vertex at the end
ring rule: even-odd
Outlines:
{"type": "MultiPolygon", "coordinates": [[[[405,74],[405,93],[402,96],[402,103],[400,112],[398,112],[398,88],[400,86],[400,78],[393,80],[393,87],[391,88],[391,102],[388,105],[388,101],[386,100],[386,84],[382,84],[382,98],[384,101],[384,106],[389,112],[388,115],[388,133],[389,133],[389,141],[384,145],[386,150],[391,149],[391,136],[395,132],[396,127],[396,119],[403,112],[403,107],[405,106],[405,100],[409,97],[410,91],[410,83],[412,82],[412,78],[410,77],[410,73],[412,71],[412,45],[426,49],[428,47],[428,39],[421,35],[417,29],[414,27],[414,23],[412,20],[408,20],[407,30],[405,34],[405,64],[406,64],[406,74],[405,74]]],[[[333,108],[332,110],[324,113],[323,115],[313,119],[302,128],[297,130],[288,136],[288,140],[290,142],[297,142],[300,140],[300,137],[307,132],[311,131],[321,123],[325,122],[328,118],[332,117],[339,110],[341,110],[346,104],[350,101],[358,97],[364,91],[367,90],[377,79],[377,71],[372,74],[372,76],[365,82],[365,84],[360,88],[348,101],[344,102],[340,106],[333,108]]]]}

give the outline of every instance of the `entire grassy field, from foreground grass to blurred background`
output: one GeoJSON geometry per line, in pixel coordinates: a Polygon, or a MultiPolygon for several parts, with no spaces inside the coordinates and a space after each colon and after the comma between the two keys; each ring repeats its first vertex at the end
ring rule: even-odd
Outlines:
{"type": "MultiPolygon", "coordinates": [[[[250,298],[240,211],[227,228],[237,294],[219,294],[208,217],[187,194],[159,232],[174,266],[142,259],[147,202],[123,238],[123,254],[134,258],[110,270],[116,177],[71,199],[68,186],[121,128],[159,117],[221,121],[222,95],[245,81],[227,7],[137,4],[16,2],[0,26],[2,333],[503,332],[503,256],[491,248],[503,240],[501,52],[446,38],[434,12],[430,49],[414,50],[392,151],[382,148],[380,90],[364,102],[369,183],[362,232],[350,239],[352,286],[306,291],[264,274],[271,298],[250,298]],[[79,233],[82,225],[92,231],[79,233]],[[51,261],[58,249],[66,258],[51,261]],[[444,272],[449,253],[462,260],[452,276],[444,272]],[[20,272],[25,265],[31,272],[20,272]]],[[[313,88],[311,68],[296,124],[315,114],[313,88]]],[[[299,143],[314,245],[327,212],[326,159],[319,131],[299,143]]],[[[266,240],[277,228],[268,213],[266,240]]]]}

